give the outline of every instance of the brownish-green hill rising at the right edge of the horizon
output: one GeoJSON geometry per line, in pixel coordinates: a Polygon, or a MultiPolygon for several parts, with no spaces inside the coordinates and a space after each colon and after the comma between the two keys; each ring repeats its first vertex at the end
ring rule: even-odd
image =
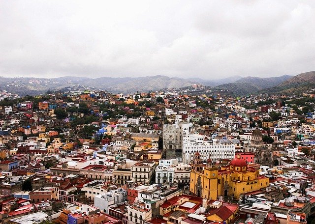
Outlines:
{"type": "Polygon", "coordinates": [[[264,93],[301,94],[315,88],[315,71],[301,73],[277,86],[262,90],[264,93]]]}

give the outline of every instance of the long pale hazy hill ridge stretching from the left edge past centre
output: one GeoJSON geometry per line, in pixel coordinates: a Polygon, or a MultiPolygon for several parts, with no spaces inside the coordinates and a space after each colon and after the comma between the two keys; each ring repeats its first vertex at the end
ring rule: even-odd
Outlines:
{"type": "Polygon", "coordinates": [[[137,78],[101,77],[96,79],[81,77],[44,78],[5,78],[0,77],[0,90],[7,90],[19,96],[38,95],[59,89],[102,89],[113,93],[134,93],[141,91],[159,90],[165,88],[180,88],[195,84],[195,82],[170,78],[167,76],[147,76],[137,78]]]}

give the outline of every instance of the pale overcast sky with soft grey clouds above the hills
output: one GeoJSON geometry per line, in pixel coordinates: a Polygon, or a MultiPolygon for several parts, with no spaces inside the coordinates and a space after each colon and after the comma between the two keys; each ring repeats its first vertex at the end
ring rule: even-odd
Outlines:
{"type": "Polygon", "coordinates": [[[315,70],[314,0],[0,0],[0,76],[315,70]]]}

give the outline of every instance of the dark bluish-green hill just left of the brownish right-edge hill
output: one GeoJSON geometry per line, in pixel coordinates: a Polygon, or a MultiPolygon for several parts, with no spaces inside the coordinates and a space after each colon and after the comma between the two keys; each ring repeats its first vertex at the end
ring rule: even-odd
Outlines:
{"type": "Polygon", "coordinates": [[[248,95],[256,93],[260,90],[276,86],[283,83],[284,81],[290,79],[293,76],[280,76],[280,77],[270,77],[270,78],[259,78],[259,77],[244,77],[237,80],[234,83],[222,84],[214,87],[215,90],[228,91],[233,95],[248,95]]]}

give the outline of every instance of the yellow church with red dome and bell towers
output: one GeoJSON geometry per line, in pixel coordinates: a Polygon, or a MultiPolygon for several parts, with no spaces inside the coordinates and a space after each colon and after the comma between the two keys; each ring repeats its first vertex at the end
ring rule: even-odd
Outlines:
{"type": "Polygon", "coordinates": [[[238,200],[240,194],[269,185],[269,178],[259,175],[259,170],[249,168],[239,155],[229,167],[219,169],[211,164],[208,160],[205,166],[199,152],[195,153],[190,171],[190,192],[196,196],[214,200],[223,196],[238,200]]]}

